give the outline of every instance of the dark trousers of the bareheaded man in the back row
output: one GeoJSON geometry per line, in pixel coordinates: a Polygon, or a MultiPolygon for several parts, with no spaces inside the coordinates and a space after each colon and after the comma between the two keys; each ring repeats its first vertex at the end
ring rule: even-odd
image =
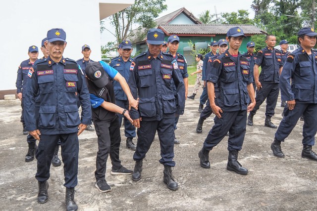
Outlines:
{"type": "Polygon", "coordinates": [[[279,93],[279,84],[265,84],[263,82],[261,82],[261,84],[262,88],[260,88],[260,90],[257,90],[256,106],[251,111],[251,113],[255,115],[266,99],[265,116],[272,117],[275,114],[274,110],[279,93]]]}

